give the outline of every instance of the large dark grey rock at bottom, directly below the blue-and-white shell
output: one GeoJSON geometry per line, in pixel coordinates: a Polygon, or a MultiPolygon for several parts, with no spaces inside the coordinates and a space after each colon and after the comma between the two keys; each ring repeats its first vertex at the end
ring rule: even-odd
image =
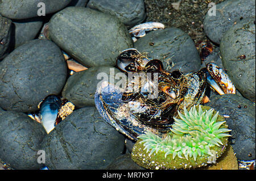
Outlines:
{"type": "Polygon", "coordinates": [[[74,111],[42,142],[49,169],[105,169],[122,154],[125,137],[95,107],[74,111]]]}

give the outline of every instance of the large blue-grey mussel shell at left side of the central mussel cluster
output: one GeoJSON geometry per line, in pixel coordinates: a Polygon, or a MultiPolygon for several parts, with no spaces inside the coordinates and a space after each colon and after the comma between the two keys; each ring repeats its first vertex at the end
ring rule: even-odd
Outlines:
{"type": "Polygon", "coordinates": [[[143,124],[131,114],[129,108],[131,102],[123,102],[122,100],[124,91],[109,82],[102,82],[94,95],[96,108],[102,118],[132,140],[137,140],[137,136],[147,131],[162,134],[157,129],[143,124]]]}

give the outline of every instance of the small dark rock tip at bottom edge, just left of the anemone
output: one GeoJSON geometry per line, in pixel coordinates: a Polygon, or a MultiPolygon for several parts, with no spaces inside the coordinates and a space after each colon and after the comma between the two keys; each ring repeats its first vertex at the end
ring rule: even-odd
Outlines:
{"type": "Polygon", "coordinates": [[[116,158],[106,170],[144,170],[138,166],[132,159],[130,154],[123,154],[116,158]]]}

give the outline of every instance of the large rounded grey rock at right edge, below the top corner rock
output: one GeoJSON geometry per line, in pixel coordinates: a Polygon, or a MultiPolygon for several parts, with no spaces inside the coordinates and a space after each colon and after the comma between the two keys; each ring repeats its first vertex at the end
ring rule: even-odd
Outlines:
{"type": "Polygon", "coordinates": [[[220,44],[222,63],[237,89],[255,100],[255,18],[234,25],[220,44]]]}

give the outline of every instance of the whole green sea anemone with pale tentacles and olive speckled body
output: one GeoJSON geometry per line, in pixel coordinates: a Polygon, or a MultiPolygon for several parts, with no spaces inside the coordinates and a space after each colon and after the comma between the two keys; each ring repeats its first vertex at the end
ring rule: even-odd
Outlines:
{"type": "Polygon", "coordinates": [[[224,117],[207,106],[184,108],[178,115],[165,138],[151,132],[138,137],[133,161],[146,169],[186,169],[216,162],[231,131],[224,117]]]}

